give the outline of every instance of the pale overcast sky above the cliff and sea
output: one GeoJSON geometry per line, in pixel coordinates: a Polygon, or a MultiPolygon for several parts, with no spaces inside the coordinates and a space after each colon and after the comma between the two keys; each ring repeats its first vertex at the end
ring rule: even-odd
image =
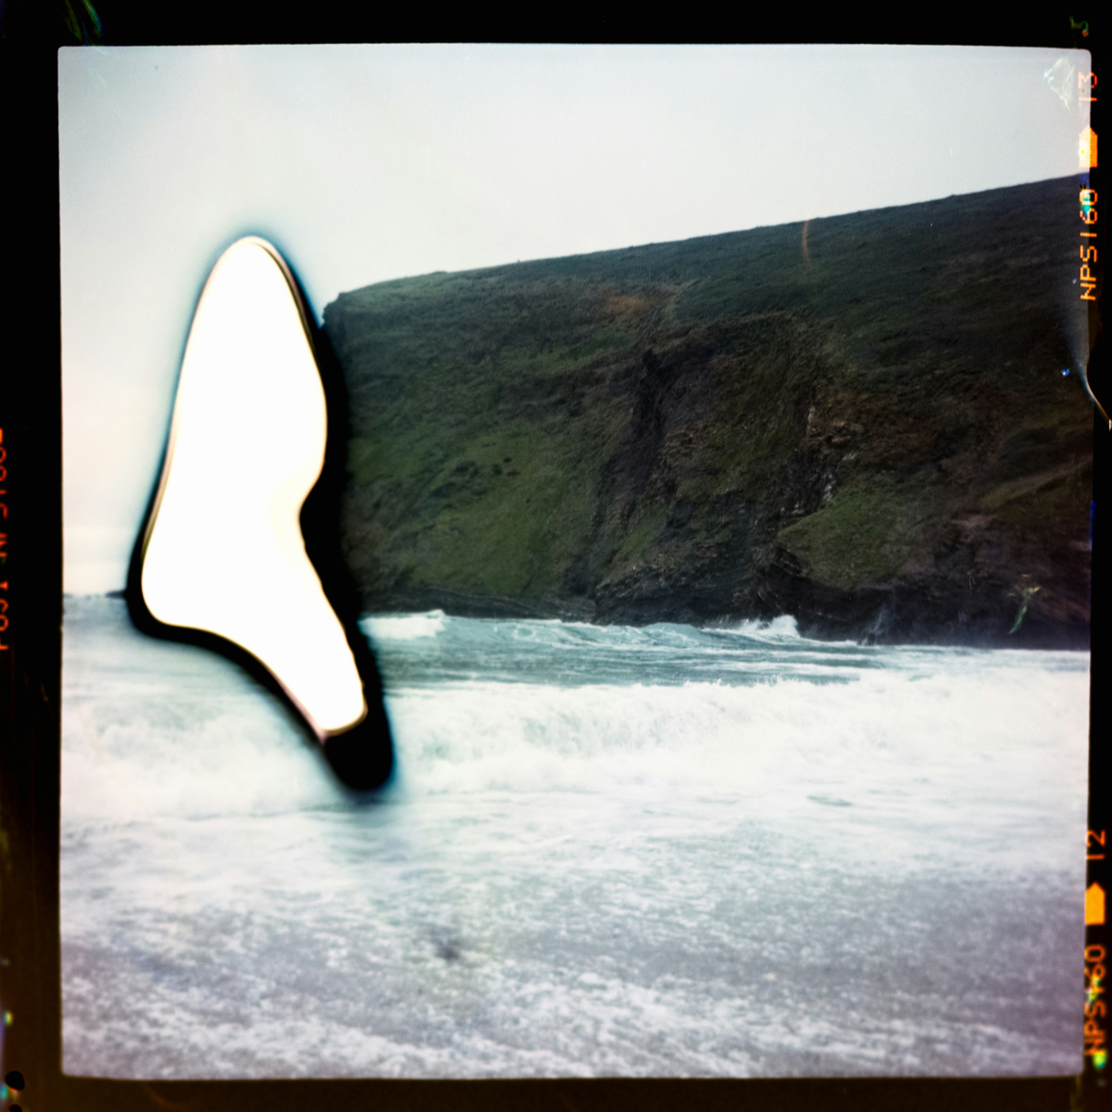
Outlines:
{"type": "Polygon", "coordinates": [[[319,319],[406,275],[1063,177],[1083,122],[1068,71],[1088,64],[970,47],[62,49],[66,589],[123,585],[190,314],[240,236],[285,254],[319,319]]]}

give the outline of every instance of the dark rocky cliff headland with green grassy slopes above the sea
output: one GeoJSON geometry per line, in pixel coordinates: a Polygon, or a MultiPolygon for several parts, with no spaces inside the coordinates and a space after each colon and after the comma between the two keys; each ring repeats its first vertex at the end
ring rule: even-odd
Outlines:
{"type": "Polygon", "coordinates": [[[341,295],[368,610],[1083,647],[1076,187],[341,295]],[[649,274],[652,279],[649,279],[649,274]]]}

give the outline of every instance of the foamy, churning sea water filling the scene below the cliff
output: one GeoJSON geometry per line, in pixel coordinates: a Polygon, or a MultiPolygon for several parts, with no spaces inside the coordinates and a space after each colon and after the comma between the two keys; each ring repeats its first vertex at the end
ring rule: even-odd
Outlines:
{"type": "Polygon", "coordinates": [[[222,657],[63,627],[63,1070],[1081,1070],[1089,656],[366,618],[369,800],[222,657]]]}

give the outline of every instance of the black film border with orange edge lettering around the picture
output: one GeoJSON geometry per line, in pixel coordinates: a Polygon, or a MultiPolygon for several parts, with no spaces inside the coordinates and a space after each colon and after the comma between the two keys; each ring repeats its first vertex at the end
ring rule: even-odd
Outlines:
{"type": "MultiPolygon", "coordinates": [[[[0,1108],[23,1112],[46,1109],[255,1109],[327,1105],[363,1109],[500,1109],[522,1104],[537,1109],[683,1106],[753,1110],[806,1108],[953,1110],[1007,1108],[1069,1109],[1090,1112],[1112,1108],[1112,1007],[1103,1011],[1103,989],[1112,962],[1112,929],[1105,916],[1085,929],[1086,1009],[1084,1070],[1076,1078],[835,1078],[835,1079],[553,1079],[522,1081],[115,1081],[67,1076],[61,1073],[61,964],[58,906],[59,784],[60,784],[60,639],[61,639],[61,428],[60,428],[60,292],[58,270],[58,147],[57,50],[61,46],[101,42],[112,46],[203,44],[211,42],[363,42],[363,41],[573,41],[632,42],[636,37],[625,20],[599,17],[587,34],[506,36],[505,24],[475,19],[428,24],[384,24],[377,18],[353,19],[320,10],[301,16],[289,33],[285,27],[259,26],[257,9],[222,8],[186,17],[152,10],[137,0],[57,0],[51,6],[16,0],[0,11],[0,88],[11,120],[7,136],[9,166],[19,168],[4,211],[9,264],[3,270],[8,307],[0,380],[0,428],[7,470],[0,488],[0,597],[7,626],[0,631],[0,1074],[17,1070],[23,1088],[0,1089],[0,1108]],[[495,33],[489,33],[494,31],[495,33]],[[387,33],[384,33],[387,32],[387,33]],[[11,109],[16,109],[12,111],[11,109]],[[44,145],[44,146],[43,146],[44,145]],[[51,151],[43,157],[43,149],[51,151]],[[50,229],[49,231],[44,229],[50,229]],[[34,291],[28,297],[27,289],[34,291]],[[19,316],[17,317],[17,311],[19,316]],[[1104,971],[1098,967],[1103,965],[1104,971]],[[1088,994],[1088,995],[1086,995],[1088,994]],[[1091,1012],[1091,1014],[1089,1014],[1091,1012]],[[1090,1035],[1092,1037],[1090,1037],[1090,1035]],[[1091,1049],[1091,1052],[1090,1052],[1091,1049]],[[1104,1059],[1101,1060],[1101,1053],[1104,1059]]],[[[966,16],[961,22],[893,33],[865,19],[811,20],[792,27],[783,22],[744,27],[726,21],[693,29],[674,41],[902,42],[920,44],[1042,46],[1085,49],[1098,77],[1090,105],[1091,129],[1102,130],[1099,79],[1103,76],[1103,40],[1090,21],[1058,12],[1033,12],[1019,20],[966,16]]],[[[540,28],[542,32],[550,29],[540,28]]],[[[659,42],[661,39],[652,41],[659,42]]],[[[1100,167],[1089,171],[1094,191],[1092,208],[1100,228],[1093,242],[1094,299],[1089,306],[1090,335],[1100,330],[1103,290],[1100,167]]],[[[1084,186],[1083,186],[1084,188],[1084,186]]],[[[1103,353],[1091,364],[1098,395],[1104,384],[1103,353]]],[[[1104,388],[1106,391],[1106,387],[1104,388]]],[[[1094,506],[1112,476],[1112,434],[1094,410],[1094,506]]],[[[1103,514],[1093,517],[1093,615],[1091,628],[1090,783],[1086,890],[1095,884],[1106,893],[1112,885],[1112,756],[1098,738],[1108,734],[1109,714],[1099,693],[1112,689],[1112,658],[1106,652],[1098,616],[1108,620],[1112,593],[1106,587],[1105,556],[1112,533],[1103,514]],[[1103,837],[1103,842],[1101,841],[1103,837]],[[1109,854],[1100,848],[1108,844],[1109,854]]],[[[1080,852],[1080,847],[1079,847],[1080,852]]],[[[1086,915],[1086,919],[1096,919],[1086,915]]],[[[1079,974],[1081,967],[1079,955],[1079,974]]]]}

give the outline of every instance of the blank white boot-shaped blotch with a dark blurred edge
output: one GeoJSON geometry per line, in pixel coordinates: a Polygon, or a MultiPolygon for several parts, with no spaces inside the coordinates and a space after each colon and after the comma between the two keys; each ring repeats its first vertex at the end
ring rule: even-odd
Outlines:
{"type": "Polygon", "coordinates": [[[327,435],[294,280],[269,244],[241,239],[193,317],[140,583],[159,622],[259,659],[321,741],[367,714],[298,519],[327,435]]]}

